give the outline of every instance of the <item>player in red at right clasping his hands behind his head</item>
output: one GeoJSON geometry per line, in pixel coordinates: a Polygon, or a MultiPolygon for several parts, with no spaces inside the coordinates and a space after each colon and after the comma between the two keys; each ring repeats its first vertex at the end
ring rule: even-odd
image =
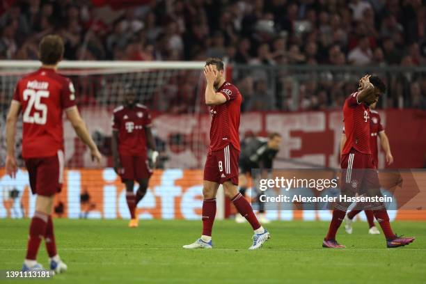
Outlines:
{"type": "MultiPolygon", "coordinates": [[[[343,121],[347,141],[343,147],[340,166],[345,169],[341,180],[342,195],[369,194],[375,190],[374,196],[379,196],[379,176],[375,169],[370,149],[370,119],[369,106],[377,102],[379,96],[386,91],[385,84],[377,76],[367,75],[360,80],[358,92],[350,95],[343,106],[343,121]],[[352,171],[352,168],[355,171],[352,171]],[[368,189],[368,191],[365,191],[368,189]]],[[[345,248],[336,241],[336,233],[346,215],[350,203],[338,203],[333,210],[329,232],[322,246],[324,248],[345,248]]],[[[388,248],[405,246],[414,241],[413,237],[399,237],[390,228],[389,216],[383,203],[375,203],[373,214],[376,217],[386,237],[388,248]]]]}

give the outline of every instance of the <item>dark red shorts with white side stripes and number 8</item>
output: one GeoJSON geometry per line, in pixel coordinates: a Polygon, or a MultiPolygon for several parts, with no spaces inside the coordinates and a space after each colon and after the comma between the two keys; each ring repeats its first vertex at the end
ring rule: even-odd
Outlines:
{"type": "Polygon", "coordinates": [[[204,180],[223,184],[230,180],[238,185],[238,158],[239,151],[232,144],[207,155],[204,166],[204,180]]]}

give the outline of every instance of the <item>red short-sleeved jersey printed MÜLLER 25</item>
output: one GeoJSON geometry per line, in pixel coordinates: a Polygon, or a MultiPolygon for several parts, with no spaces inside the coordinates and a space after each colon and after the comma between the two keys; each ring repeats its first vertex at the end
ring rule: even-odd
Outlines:
{"type": "Polygon", "coordinates": [[[17,82],[13,100],[22,110],[22,157],[51,157],[63,150],[63,110],[75,106],[70,79],[40,68],[17,82]]]}

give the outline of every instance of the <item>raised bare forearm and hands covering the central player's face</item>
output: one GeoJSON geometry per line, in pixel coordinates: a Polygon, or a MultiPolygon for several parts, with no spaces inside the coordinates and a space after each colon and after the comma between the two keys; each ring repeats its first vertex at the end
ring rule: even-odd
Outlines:
{"type": "Polygon", "coordinates": [[[215,65],[207,65],[204,68],[205,79],[207,86],[205,86],[205,104],[214,106],[226,102],[226,97],[221,93],[216,93],[214,82],[220,80],[218,85],[221,86],[225,79],[223,79],[223,70],[218,71],[215,65]]]}

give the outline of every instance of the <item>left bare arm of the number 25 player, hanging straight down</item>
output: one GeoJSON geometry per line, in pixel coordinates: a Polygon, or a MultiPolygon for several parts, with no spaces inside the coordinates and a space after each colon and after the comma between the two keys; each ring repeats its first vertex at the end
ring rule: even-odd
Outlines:
{"type": "Polygon", "coordinates": [[[10,104],[8,116],[6,118],[6,173],[11,178],[15,178],[17,172],[17,162],[15,158],[15,136],[16,124],[19,116],[21,104],[13,100],[10,104]]]}

